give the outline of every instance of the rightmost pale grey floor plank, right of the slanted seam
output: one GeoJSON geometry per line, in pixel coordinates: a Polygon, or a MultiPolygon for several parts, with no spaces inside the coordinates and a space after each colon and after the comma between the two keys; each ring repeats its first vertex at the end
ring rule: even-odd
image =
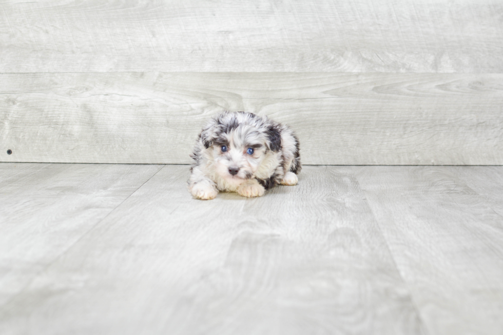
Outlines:
{"type": "MultiPolygon", "coordinates": [[[[465,170],[481,178],[487,169],[365,167],[357,173],[431,334],[503,329],[503,216],[458,175],[465,170]]],[[[490,170],[501,174],[503,167],[490,170]]],[[[494,182],[501,189],[502,180],[494,182]]]]}

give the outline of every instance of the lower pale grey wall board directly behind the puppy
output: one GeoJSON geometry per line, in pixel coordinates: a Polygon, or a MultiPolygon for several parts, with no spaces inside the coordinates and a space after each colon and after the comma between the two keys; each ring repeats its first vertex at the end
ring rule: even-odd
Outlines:
{"type": "Polygon", "coordinates": [[[291,125],[304,164],[497,165],[502,83],[503,74],[0,74],[0,161],[186,164],[206,119],[247,110],[291,125]]]}

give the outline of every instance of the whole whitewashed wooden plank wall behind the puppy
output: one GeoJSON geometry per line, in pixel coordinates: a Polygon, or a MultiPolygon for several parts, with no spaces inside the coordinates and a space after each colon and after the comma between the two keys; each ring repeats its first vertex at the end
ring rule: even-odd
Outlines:
{"type": "Polygon", "coordinates": [[[304,164],[503,164],[503,3],[7,1],[0,162],[189,163],[204,120],[304,164]],[[7,150],[12,154],[7,154],[7,150]]]}

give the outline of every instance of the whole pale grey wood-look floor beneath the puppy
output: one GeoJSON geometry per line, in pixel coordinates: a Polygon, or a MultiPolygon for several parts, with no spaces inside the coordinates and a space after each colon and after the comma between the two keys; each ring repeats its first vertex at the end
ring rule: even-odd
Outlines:
{"type": "Polygon", "coordinates": [[[0,333],[501,334],[503,166],[0,164],[0,333]]]}

